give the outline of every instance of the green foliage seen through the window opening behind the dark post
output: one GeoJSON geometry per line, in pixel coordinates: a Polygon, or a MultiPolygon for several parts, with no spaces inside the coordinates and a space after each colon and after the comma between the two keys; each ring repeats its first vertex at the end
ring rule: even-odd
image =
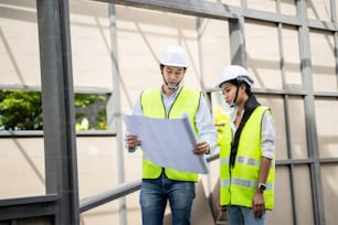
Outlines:
{"type": "MultiPolygon", "coordinates": [[[[75,94],[75,119],[81,122],[95,111],[87,107],[104,103],[106,96],[92,94],[75,94]]],[[[102,104],[103,105],[103,104],[102,104]]],[[[0,90],[0,130],[42,130],[42,99],[40,92],[29,90],[0,90]]],[[[102,106],[97,111],[93,129],[106,129],[106,108],[102,106]]]]}

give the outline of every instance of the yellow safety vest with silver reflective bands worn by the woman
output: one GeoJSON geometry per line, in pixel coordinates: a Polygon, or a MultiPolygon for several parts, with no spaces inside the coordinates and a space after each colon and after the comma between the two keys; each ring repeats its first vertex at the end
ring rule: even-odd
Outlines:
{"type": "MultiPolygon", "coordinates": [[[[221,205],[241,205],[252,207],[253,195],[256,192],[262,161],[261,122],[264,113],[270,108],[258,106],[243,127],[235,165],[230,168],[230,151],[232,130],[230,122],[224,127],[220,143],[220,202],[221,205]]],[[[275,159],[271,169],[264,191],[265,208],[274,207],[275,159]]]]}

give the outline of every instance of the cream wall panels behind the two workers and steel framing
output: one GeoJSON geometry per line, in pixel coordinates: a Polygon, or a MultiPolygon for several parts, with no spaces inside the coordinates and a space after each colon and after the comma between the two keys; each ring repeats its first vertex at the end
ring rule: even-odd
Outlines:
{"type": "MultiPolygon", "coordinates": [[[[241,7],[241,1],[222,2],[241,7]]],[[[267,13],[271,20],[275,14],[289,20],[297,17],[297,4],[292,0],[243,2],[253,10],[251,13],[267,13]]],[[[330,9],[328,0],[306,2],[311,24],[336,18],[337,9],[330,9]]],[[[114,94],[107,4],[71,0],[70,9],[75,90],[114,94]]],[[[319,200],[318,205],[323,201],[325,206],[326,224],[336,224],[336,31],[313,25],[306,42],[299,25],[256,20],[247,14],[243,26],[246,64],[256,81],[258,100],[273,110],[277,135],[276,207],[267,212],[267,223],[316,224],[319,200]],[[304,49],[310,52],[311,62],[310,73],[305,75],[300,67],[304,49]]],[[[213,88],[222,67],[231,62],[228,21],[200,19],[198,32],[194,17],[122,6],[116,6],[116,18],[122,110],[126,114],[131,113],[142,89],[161,83],[158,57],[168,44],[179,43],[187,50],[191,66],[184,84],[190,87],[213,88]]],[[[35,1],[1,0],[0,87],[39,89],[39,62],[35,1]]],[[[218,105],[222,100],[215,92],[211,106],[218,105]]],[[[77,138],[80,199],[117,185],[116,151],[113,137],[77,138]]],[[[44,194],[43,157],[41,137],[1,139],[0,197],[44,194]]],[[[140,178],[140,152],[125,152],[124,159],[126,181],[140,178]]],[[[207,196],[218,174],[218,162],[213,162],[210,176],[201,178],[207,196]]],[[[129,224],[140,224],[138,192],[127,196],[127,206],[129,224]]],[[[81,221],[83,225],[118,224],[118,212],[115,201],[83,213],[81,221]]]]}

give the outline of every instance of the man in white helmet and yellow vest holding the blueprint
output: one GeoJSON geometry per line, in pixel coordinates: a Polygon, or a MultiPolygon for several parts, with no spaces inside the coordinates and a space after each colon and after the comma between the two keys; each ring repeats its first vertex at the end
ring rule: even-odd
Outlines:
{"type": "MultiPolygon", "coordinates": [[[[203,94],[181,85],[189,65],[183,49],[179,45],[169,46],[161,55],[159,64],[163,84],[141,93],[135,104],[134,115],[173,119],[188,114],[191,126],[198,135],[198,142],[191,150],[194,154],[212,152],[216,146],[216,131],[203,94]]],[[[141,144],[141,140],[129,133],[126,136],[126,144],[133,152],[141,144]]],[[[172,224],[190,224],[197,181],[198,174],[155,165],[144,153],[139,197],[142,224],[162,224],[168,200],[172,212],[172,224]]]]}

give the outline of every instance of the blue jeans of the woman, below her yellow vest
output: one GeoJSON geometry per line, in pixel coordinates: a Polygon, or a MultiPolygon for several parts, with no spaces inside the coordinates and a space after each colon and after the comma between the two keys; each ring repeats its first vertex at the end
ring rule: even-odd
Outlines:
{"type": "Polygon", "coordinates": [[[226,214],[230,225],[264,225],[265,214],[256,219],[251,207],[228,205],[226,214]]]}

